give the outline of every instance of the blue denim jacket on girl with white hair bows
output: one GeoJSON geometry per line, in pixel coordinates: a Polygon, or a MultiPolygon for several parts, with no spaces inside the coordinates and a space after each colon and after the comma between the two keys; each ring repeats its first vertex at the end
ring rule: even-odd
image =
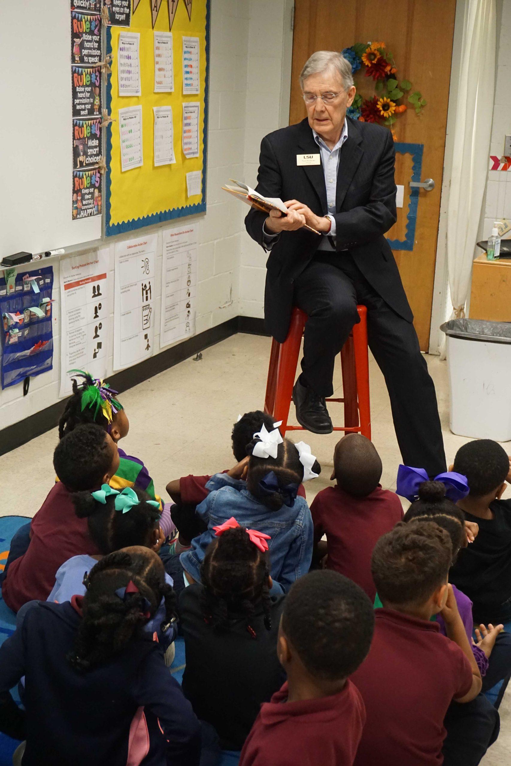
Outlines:
{"type": "Polygon", "coordinates": [[[306,575],[313,557],[313,519],[303,497],[296,497],[293,506],[272,511],[247,489],[247,483],[233,479],[227,473],[216,473],[206,484],[208,497],[197,506],[198,515],[208,529],[192,540],[192,548],[179,557],[183,568],[195,581],[201,581],[200,567],[206,548],[215,539],[213,527],[231,516],[240,526],[257,529],[270,535],[270,575],[289,591],[293,582],[306,575]]]}

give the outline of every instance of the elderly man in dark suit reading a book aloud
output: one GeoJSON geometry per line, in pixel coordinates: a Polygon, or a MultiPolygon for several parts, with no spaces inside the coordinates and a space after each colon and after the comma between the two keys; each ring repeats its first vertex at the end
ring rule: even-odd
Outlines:
{"type": "Polygon", "coordinates": [[[384,236],[396,220],[391,133],[346,117],[355,86],[341,54],[313,54],[300,85],[307,118],[265,136],[257,176],[257,191],[287,200],[289,213],[267,216],[252,209],[245,219],[251,237],[270,251],[267,329],[283,342],[293,306],[309,316],[302,372],[293,388],[296,418],[315,434],[332,431],[325,398],[332,395],[336,354],[359,322],[356,306],[363,303],[403,461],[435,475],[446,465],[434,384],[384,236]]]}

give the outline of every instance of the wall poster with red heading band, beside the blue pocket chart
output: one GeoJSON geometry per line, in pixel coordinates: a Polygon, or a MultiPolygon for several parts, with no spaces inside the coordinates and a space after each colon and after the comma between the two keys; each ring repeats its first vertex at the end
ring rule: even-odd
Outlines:
{"type": "Polygon", "coordinates": [[[72,391],[70,370],[104,378],[108,361],[110,247],[61,260],[61,389],[72,391]]]}

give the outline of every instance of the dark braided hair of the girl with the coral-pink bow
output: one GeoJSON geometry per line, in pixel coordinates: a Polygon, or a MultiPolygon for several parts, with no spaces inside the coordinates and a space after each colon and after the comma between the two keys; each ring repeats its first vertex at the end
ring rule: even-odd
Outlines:
{"type": "Polygon", "coordinates": [[[256,638],[251,620],[262,602],[264,627],[271,629],[270,563],[267,553],[251,542],[243,527],[227,529],[208,546],[201,565],[202,608],[208,624],[228,631],[241,614],[256,638]]]}

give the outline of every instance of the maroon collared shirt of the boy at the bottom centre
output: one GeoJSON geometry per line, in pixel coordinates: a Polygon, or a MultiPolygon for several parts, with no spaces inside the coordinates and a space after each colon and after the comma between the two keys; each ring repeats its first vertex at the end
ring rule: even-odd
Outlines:
{"type": "Polygon", "coordinates": [[[286,700],[287,683],[261,705],[239,766],[351,766],[365,721],[351,681],[339,694],[286,700]]]}

